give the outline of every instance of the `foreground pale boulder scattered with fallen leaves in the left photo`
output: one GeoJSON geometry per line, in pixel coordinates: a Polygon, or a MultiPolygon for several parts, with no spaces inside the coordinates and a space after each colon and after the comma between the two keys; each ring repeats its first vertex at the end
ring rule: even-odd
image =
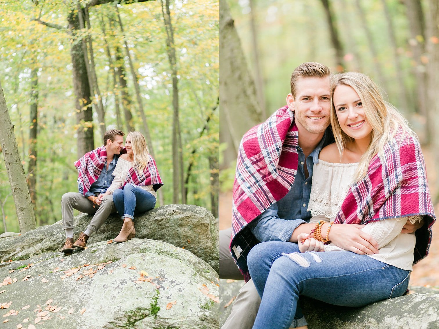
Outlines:
{"type": "Polygon", "coordinates": [[[1,327],[217,329],[217,277],[189,251],[148,239],[44,253],[0,265],[12,282],[0,286],[1,327]]]}

